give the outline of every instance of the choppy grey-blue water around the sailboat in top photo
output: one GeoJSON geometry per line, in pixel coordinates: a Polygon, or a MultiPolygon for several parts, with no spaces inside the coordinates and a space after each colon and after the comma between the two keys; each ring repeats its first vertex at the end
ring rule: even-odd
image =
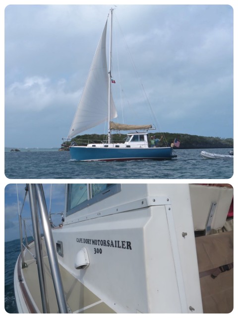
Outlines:
{"type": "MultiPolygon", "coordinates": [[[[70,159],[58,149],[5,149],[5,176],[9,179],[229,179],[233,159],[203,159],[204,149],[178,149],[172,160],[91,161],[70,159]]],[[[206,149],[228,155],[231,149],[206,149]]]]}

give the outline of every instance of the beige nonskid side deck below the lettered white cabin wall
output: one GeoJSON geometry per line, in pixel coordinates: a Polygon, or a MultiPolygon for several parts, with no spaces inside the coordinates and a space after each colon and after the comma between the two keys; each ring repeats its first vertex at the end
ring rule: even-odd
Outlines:
{"type": "MultiPolygon", "coordinates": [[[[34,242],[30,244],[29,251],[33,255],[36,254],[34,242]]],[[[50,313],[59,313],[44,239],[42,239],[42,251],[50,313]]],[[[24,257],[27,267],[21,269],[23,283],[26,286],[30,298],[33,299],[37,308],[42,313],[43,310],[36,260],[27,250],[25,250],[24,257]]],[[[60,274],[66,302],[72,313],[114,313],[111,308],[109,308],[101,299],[81,284],[61,265],[60,274]]]]}

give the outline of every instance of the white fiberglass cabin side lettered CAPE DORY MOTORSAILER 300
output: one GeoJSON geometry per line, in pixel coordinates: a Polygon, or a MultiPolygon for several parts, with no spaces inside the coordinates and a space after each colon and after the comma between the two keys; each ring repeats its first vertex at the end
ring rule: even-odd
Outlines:
{"type": "Polygon", "coordinates": [[[188,185],[109,184],[91,199],[94,187],[68,186],[60,264],[113,312],[201,313],[188,185]]]}

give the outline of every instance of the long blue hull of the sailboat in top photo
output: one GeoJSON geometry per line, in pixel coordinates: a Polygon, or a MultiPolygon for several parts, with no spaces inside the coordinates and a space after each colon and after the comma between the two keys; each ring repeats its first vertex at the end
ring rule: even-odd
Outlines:
{"type": "Polygon", "coordinates": [[[177,157],[173,149],[165,148],[99,148],[70,147],[71,158],[79,161],[128,161],[128,160],[164,160],[177,157]]]}

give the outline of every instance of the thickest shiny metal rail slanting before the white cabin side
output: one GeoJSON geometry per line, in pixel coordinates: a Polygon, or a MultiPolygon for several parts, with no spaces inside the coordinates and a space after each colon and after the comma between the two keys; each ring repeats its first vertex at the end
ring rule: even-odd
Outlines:
{"type": "Polygon", "coordinates": [[[45,236],[48,259],[51,267],[53,283],[56,292],[57,303],[60,314],[67,314],[67,305],[63,293],[62,280],[60,276],[60,267],[57,259],[54,239],[51,231],[51,225],[47,212],[47,206],[42,184],[33,185],[36,191],[36,198],[41,216],[42,228],[45,236]]]}

